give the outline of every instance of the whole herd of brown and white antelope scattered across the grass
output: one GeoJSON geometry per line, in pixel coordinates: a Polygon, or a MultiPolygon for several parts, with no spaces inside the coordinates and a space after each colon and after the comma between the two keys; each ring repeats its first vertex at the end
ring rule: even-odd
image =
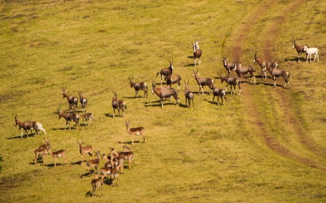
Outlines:
{"type": "MultiPolygon", "coordinates": [[[[300,58],[301,58],[301,54],[302,53],[306,53],[306,63],[308,62],[308,58],[310,57],[310,63],[311,63],[311,55],[314,55],[314,60],[317,58],[317,61],[319,62],[319,56],[318,56],[318,49],[317,48],[310,48],[310,46],[308,45],[298,45],[296,44],[297,39],[294,40],[294,38],[292,39],[292,49],[296,49],[297,53],[298,53],[298,62],[300,62],[300,58]]],[[[196,64],[200,65],[201,62],[201,56],[202,56],[202,51],[199,49],[199,41],[196,41],[195,43],[192,42],[192,46],[193,46],[193,51],[194,51],[194,66],[196,66],[196,64]]],[[[233,61],[233,63],[227,62],[227,56],[223,56],[223,66],[225,68],[225,70],[227,71],[227,76],[222,75],[222,71],[221,73],[218,73],[217,77],[218,79],[221,80],[221,84],[224,83],[224,81],[226,82],[226,87],[225,90],[223,88],[218,88],[215,86],[214,82],[216,79],[211,79],[211,78],[200,78],[199,75],[200,73],[198,73],[198,67],[197,70],[195,72],[195,70],[193,69],[193,75],[195,77],[195,80],[199,86],[199,92],[198,94],[200,95],[201,93],[204,94],[204,87],[207,86],[208,87],[208,94],[210,94],[210,92],[213,92],[213,98],[212,98],[212,104],[214,104],[214,99],[215,96],[218,97],[218,101],[217,101],[217,105],[220,105],[220,98],[222,100],[221,105],[223,105],[224,100],[226,102],[226,105],[228,104],[228,100],[227,100],[227,87],[230,85],[231,86],[231,91],[230,94],[234,95],[236,92],[236,86],[239,89],[239,96],[241,94],[241,76],[244,75],[250,75],[251,77],[251,83],[256,83],[256,78],[255,78],[255,68],[252,65],[242,65],[240,63],[238,63],[238,61],[233,61]],[[231,72],[235,72],[236,73],[236,77],[235,76],[231,76],[231,72]],[[233,87],[233,91],[232,91],[232,87],[233,87]],[[224,98],[224,100],[223,100],[224,98]]],[[[164,99],[170,99],[174,97],[174,99],[176,100],[176,104],[180,104],[180,99],[178,97],[178,93],[180,91],[180,86],[181,86],[181,76],[173,74],[174,71],[174,64],[173,64],[173,59],[172,62],[169,60],[169,67],[167,67],[166,69],[162,69],[160,72],[158,72],[156,74],[156,78],[158,75],[160,75],[160,85],[162,85],[162,81],[163,78],[165,78],[166,80],[166,85],[165,86],[157,86],[157,84],[155,83],[155,79],[152,81],[152,94],[156,94],[159,98],[160,98],[160,106],[161,108],[163,108],[163,102],[164,99]],[[177,84],[177,89],[172,88],[172,85],[177,84]]],[[[289,83],[289,77],[290,74],[288,72],[286,72],[285,70],[279,70],[279,64],[275,61],[269,61],[269,60],[262,60],[257,56],[257,51],[255,52],[254,55],[254,61],[253,63],[257,63],[260,68],[261,68],[261,78],[262,79],[267,79],[267,74],[266,71],[269,72],[269,74],[271,75],[271,78],[274,81],[274,87],[276,87],[276,80],[277,78],[282,77],[285,80],[285,85],[284,88],[286,88],[286,85],[289,86],[290,89],[290,83],[289,83]]],[[[144,91],[144,98],[147,96],[147,92],[148,92],[148,86],[145,82],[134,82],[133,81],[133,76],[131,76],[128,78],[129,79],[129,83],[130,83],[130,87],[134,88],[135,90],[135,98],[137,97],[137,94],[139,94],[138,91],[143,90],[144,91]]],[[[184,86],[185,86],[185,106],[187,108],[191,107],[191,103],[193,103],[193,108],[195,109],[195,105],[194,105],[194,93],[189,89],[189,80],[184,80],[184,86]]],[[[57,109],[57,113],[59,115],[59,119],[61,119],[62,117],[66,120],[66,125],[64,130],[66,130],[67,125],[69,125],[69,129],[71,130],[71,126],[70,126],[70,122],[75,122],[75,126],[80,130],[80,125],[79,125],[79,119],[82,118],[83,119],[83,123],[85,125],[89,125],[91,123],[92,120],[95,121],[95,115],[92,113],[86,113],[86,106],[88,103],[87,98],[85,97],[85,95],[82,92],[79,92],[79,102],[82,106],[82,113],[76,113],[76,108],[77,108],[77,104],[78,104],[78,97],[76,96],[72,96],[69,95],[66,91],[67,87],[63,87],[62,88],[62,95],[63,98],[67,98],[68,100],[68,104],[69,104],[69,112],[68,113],[64,113],[61,111],[61,108],[58,107],[57,109]],[[89,123],[87,123],[87,121],[89,121],[89,123]]],[[[117,93],[115,91],[113,91],[114,97],[112,98],[112,107],[113,107],[113,118],[115,118],[115,110],[118,110],[119,116],[120,116],[120,110],[122,111],[122,118],[124,117],[125,111],[127,109],[127,105],[125,103],[125,101],[123,100],[119,100],[117,93]]],[[[140,94],[139,94],[140,95],[140,94]]],[[[141,96],[141,95],[140,95],[141,96]]],[[[17,119],[18,115],[15,115],[15,126],[19,125],[19,130],[22,128],[23,130],[21,131],[21,137],[20,139],[22,139],[23,137],[23,133],[24,135],[27,134],[27,138],[29,138],[29,130],[31,130],[31,135],[33,134],[33,130],[35,130],[35,137],[41,133],[41,131],[44,132],[44,134],[46,134],[45,129],[43,128],[42,124],[37,122],[37,121],[29,121],[29,122],[22,122],[20,120],[17,119]]],[[[130,134],[131,136],[131,145],[134,144],[134,136],[139,136],[141,135],[143,137],[143,143],[146,143],[146,136],[145,136],[145,128],[144,127],[135,127],[135,128],[130,128],[130,121],[125,120],[124,124],[126,125],[127,128],[127,132],[130,134]]],[[[54,167],[56,167],[57,165],[57,159],[58,158],[64,158],[64,165],[67,162],[66,159],[66,150],[59,150],[59,151],[55,151],[52,152],[51,150],[51,142],[49,141],[48,138],[43,138],[45,144],[39,146],[36,150],[35,150],[35,165],[37,164],[37,161],[42,161],[43,163],[45,163],[45,158],[47,154],[50,154],[52,156],[52,158],[54,159],[55,163],[54,163],[54,167]]],[[[121,152],[116,152],[114,148],[110,148],[110,152],[105,155],[104,153],[101,154],[98,150],[94,150],[93,151],[93,147],[92,146],[84,146],[84,140],[82,139],[82,142],[79,141],[79,139],[77,139],[76,144],[79,146],[79,153],[80,155],[82,155],[82,160],[80,161],[81,165],[84,165],[84,155],[90,155],[92,158],[94,158],[95,155],[95,159],[91,159],[89,161],[87,161],[86,163],[86,167],[84,168],[84,172],[85,170],[87,170],[90,174],[91,168],[95,168],[95,171],[93,171],[92,174],[95,174],[95,179],[93,179],[91,181],[92,187],[93,187],[93,192],[92,192],[92,196],[95,195],[96,190],[99,190],[99,193],[101,194],[101,187],[103,185],[103,181],[104,178],[106,177],[107,181],[109,180],[109,175],[110,175],[110,180],[113,186],[115,186],[115,182],[117,181],[117,185],[119,185],[119,172],[123,173],[123,168],[124,168],[124,160],[128,160],[129,166],[128,168],[131,168],[131,166],[133,166],[133,160],[134,160],[134,153],[132,151],[130,151],[130,148],[127,147],[126,145],[123,146],[123,151],[121,152]],[[102,167],[100,169],[100,172],[97,171],[97,168],[100,165],[100,160],[104,159],[105,160],[105,164],[104,167],[102,167]]],[[[83,172],[83,174],[84,174],[83,172]]]]}

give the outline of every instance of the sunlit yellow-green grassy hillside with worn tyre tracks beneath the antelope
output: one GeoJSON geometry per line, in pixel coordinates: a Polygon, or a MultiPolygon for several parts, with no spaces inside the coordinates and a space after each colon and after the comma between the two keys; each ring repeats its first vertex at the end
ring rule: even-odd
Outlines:
{"type": "Polygon", "coordinates": [[[326,201],[326,3],[5,1],[0,8],[1,202],[326,201]],[[274,26],[277,32],[270,31],[274,26]],[[292,36],[318,47],[319,63],[297,63],[292,36]],[[273,46],[264,46],[269,39],[273,46]],[[226,73],[222,53],[232,61],[241,46],[239,60],[248,65],[255,50],[263,59],[268,50],[291,74],[291,89],[257,77],[257,85],[241,83],[240,97],[227,95],[228,106],[212,105],[212,94],[197,94],[192,75],[195,40],[203,51],[201,77],[226,73]],[[196,109],[185,108],[184,86],[180,106],[172,99],[161,109],[150,92],[147,99],[133,98],[128,76],[151,90],[172,58],[174,73],[189,79],[196,93],[196,109]],[[59,106],[68,109],[63,86],[73,95],[85,93],[96,122],[63,130],[57,114],[59,106]],[[127,104],[124,118],[112,118],[112,90],[127,104]],[[15,114],[42,123],[52,150],[67,151],[67,165],[53,168],[49,156],[34,165],[44,135],[20,140],[15,114]],[[137,137],[140,142],[130,145],[125,119],[146,128],[146,144],[137,137]],[[105,182],[103,196],[91,198],[93,176],[82,177],[77,138],[106,154],[109,147],[130,145],[135,168],[120,175],[119,187],[105,182]]]}

